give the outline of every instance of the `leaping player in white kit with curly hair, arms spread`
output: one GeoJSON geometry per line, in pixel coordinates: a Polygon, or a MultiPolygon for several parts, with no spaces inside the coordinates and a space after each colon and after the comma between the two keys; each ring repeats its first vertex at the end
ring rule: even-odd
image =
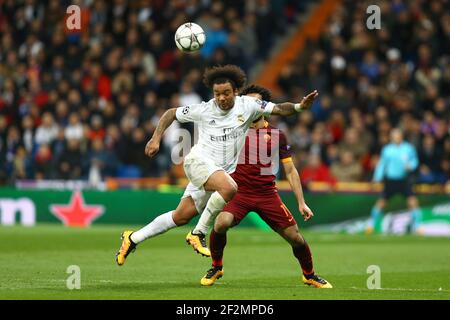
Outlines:
{"type": "Polygon", "coordinates": [[[184,159],[184,171],[190,182],[175,210],[159,215],[140,230],[122,233],[122,244],[116,254],[118,265],[125,263],[126,257],[138,243],[185,225],[198,213],[201,213],[198,224],[189,232],[186,241],[198,253],[210,256],[205,235],[217,214],[237,191],[230,173],[236,169],[252,122],[262,115],[293,115],[308,109],[318,96],[318,92],[314,91],[300,103],[274,104],[238,96],[245,82],[245,73],[237,66],[207,69],[204,83],[212,89],[214,98],[201,104],[172,108],[163,114],[145,147],[145,154],[152,157],[158,152],[163,133],[174,120],[196,123],[199,139],[184,159]]]}

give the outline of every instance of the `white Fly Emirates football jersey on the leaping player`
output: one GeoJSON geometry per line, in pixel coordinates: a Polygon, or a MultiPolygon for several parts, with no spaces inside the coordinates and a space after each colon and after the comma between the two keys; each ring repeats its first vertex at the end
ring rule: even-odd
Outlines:
{"type": "Polygon", "coordinates": [[[222,110],[215,99],[211,99],[177,108],[176,118],[198,125],[198,142],[191,152],[198,152],[226,172],[233,173],[250,125],[260,116],[270,115],[274,106],[272,102],[237,96],[233,108],[222,110]]]}

